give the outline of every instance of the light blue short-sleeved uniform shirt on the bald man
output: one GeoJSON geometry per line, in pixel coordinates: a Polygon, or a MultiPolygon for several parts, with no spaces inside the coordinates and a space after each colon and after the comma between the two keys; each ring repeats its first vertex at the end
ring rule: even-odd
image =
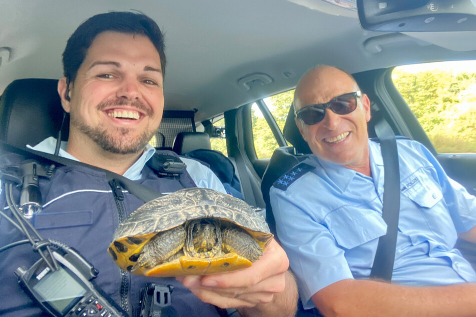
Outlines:
{"type": "MultiPolygon", "coordinates": [[[[400,218],[392,282],[442,285],[476,281],[454,249],[457,233],[476,225],[476,197],[451,180],[420,143],[397,141],[400,218]]],[[[296,275],[304,308],[311,296],[342,279],[368,278],[382,219],[383,161],[380,144],[369,141],[373,177],[311,154],[315,166],[294,179],[283,175],[270,198],[277,235],[296,275]]]]}

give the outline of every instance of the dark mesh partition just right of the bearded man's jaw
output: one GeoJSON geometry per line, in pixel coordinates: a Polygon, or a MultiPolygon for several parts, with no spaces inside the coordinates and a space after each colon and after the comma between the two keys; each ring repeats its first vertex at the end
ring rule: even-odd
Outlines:
{"type": "Polygon", "coordinates": [[[175,136],[179,132],[195,132],[194,114],[194,111],[164,111],[159,129],[151,140],[151,144],[155,147],[172,147],[175,136]]]}

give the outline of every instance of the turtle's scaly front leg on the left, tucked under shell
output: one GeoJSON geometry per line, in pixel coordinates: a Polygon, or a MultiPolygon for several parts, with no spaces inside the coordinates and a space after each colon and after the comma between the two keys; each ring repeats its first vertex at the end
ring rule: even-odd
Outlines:
{"type": "Polygon", "coordinates": [[[155,267],[166,262],[183,248],[186,236],[185,228],[182,225],[157,233],[144,244],[141,255],[131,271],[143,266],[155,267]]]}

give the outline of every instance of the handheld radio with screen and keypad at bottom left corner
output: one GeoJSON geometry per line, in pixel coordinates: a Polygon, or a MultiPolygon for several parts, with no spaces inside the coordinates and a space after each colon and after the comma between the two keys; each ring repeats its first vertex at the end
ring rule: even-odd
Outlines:
{"type": "Polygon", "coordinates": [[[28,269],[21,266],[15,271],[22,288],[43,310],[56,317],[127,316],[91,282],[98,270],[74,248],[63,247],[52,254],[56,270],[42,258],[28,269]]]}

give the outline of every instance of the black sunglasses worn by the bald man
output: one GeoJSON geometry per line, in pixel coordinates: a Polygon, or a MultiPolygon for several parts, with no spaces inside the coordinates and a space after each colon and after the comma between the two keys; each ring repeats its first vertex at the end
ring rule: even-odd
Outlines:
{"type": "Polygon", "coordinates": [[[294,112],[296,117],[304,124],[312,125],[319,123],[324,118],[326,108],[330,108],[334,113],[347,114],[357,108],[357,97],[361,97],[360,90],[344,93],[326,103],[316,103],[306,105],[294,112]]]}

